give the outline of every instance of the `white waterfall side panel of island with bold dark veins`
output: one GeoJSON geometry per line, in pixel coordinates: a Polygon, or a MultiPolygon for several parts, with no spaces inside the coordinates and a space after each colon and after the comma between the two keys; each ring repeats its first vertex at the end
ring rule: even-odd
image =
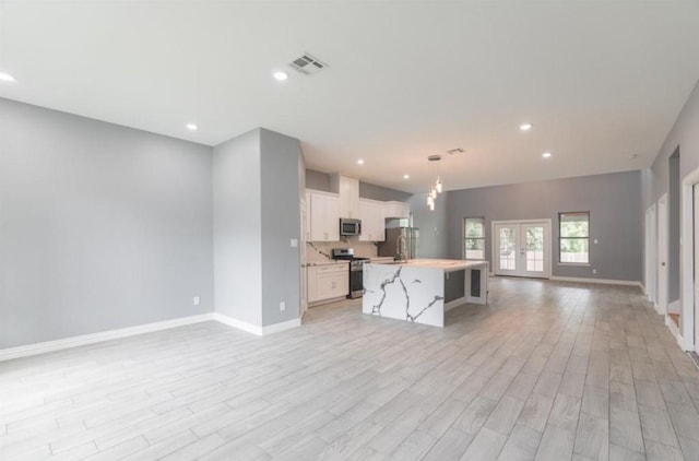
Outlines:
{"type": "Polygon", "coordinates": [[[362,310],[380,317],[445,326],[443,271],[365,264],[362,310]]]}

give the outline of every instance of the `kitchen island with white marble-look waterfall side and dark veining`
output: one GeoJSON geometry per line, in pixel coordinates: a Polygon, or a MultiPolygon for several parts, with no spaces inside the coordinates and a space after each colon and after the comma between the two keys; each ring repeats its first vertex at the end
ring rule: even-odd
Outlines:
{"type": "Polygon", "coordinates": [[[445,326],[445,311],[486,304],[488,262],[412,259],[364,265],[362,310],[374,316],[445,326]]]}

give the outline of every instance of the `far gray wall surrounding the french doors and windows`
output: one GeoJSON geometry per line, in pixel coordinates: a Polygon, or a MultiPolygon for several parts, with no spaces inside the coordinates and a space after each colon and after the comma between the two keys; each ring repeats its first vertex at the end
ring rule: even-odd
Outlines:
{"type": "Polygon", "coordinates": [[[447,193],[451,258],[462,257],[462,220],[465,216],[485,217],[488,260],[493,221],[550,218],[554,276],[642,280],[643,220],[641,173],[638,170],[447,193]],[[590,212],[590,268],[557,264],[558,213],[566,211],[590,212]],[[592,244],[595,238],[597,245],[592,244]],[[592,269],[597,273],[592,274],[592,269]]]}

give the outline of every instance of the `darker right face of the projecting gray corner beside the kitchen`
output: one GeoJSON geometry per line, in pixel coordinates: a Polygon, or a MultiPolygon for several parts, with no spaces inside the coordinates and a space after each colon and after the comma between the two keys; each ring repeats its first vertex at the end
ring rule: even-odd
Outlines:
{"type": "Polygon", "coordinates": [[[262,154],[262,326],[297,319],[300,314],[300,143],[261,130],[262,154]],[[291,247],[291,239],[299,241],[291,247]],[[280,310],[280,303],[286,310],[280,310]]]}

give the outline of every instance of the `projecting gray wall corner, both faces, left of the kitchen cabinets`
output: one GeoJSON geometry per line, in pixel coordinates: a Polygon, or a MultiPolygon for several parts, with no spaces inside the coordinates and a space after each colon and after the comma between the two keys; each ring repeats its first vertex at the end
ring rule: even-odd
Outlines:
{"type": "Polygon", "coordinates": [[[299,162],[298,140],[265,129],[214,147],[215,309],[251,331],[299,317],[299,162]]]}

